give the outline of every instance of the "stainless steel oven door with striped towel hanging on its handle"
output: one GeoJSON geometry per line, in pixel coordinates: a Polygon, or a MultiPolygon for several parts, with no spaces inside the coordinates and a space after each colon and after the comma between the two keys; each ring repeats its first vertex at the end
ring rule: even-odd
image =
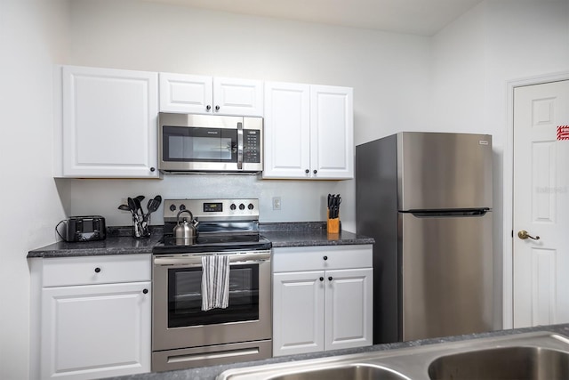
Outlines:
{"type": "Polygon", "coordinates": [[[270,339],[270,251],[155,255],[152,350],[270,339]],[[229,305],[202,311],[202,255],[229,255],[229,305]]]}

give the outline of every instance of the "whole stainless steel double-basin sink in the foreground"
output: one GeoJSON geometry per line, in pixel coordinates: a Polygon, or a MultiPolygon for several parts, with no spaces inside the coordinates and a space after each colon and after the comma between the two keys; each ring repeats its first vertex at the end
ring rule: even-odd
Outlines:
{"type": "Polygon", "coordinates": [[[569,379],[569,338],[493,336],[229,369],[218,380],[569,379]]]}

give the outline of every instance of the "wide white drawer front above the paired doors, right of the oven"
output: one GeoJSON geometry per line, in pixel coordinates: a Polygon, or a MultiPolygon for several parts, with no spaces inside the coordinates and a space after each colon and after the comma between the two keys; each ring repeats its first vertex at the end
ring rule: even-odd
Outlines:
{"type": "Polygon", "coordinates": [[[273,272],[327,271],[373,266],[371,245],[273,248],[273,272]]]}

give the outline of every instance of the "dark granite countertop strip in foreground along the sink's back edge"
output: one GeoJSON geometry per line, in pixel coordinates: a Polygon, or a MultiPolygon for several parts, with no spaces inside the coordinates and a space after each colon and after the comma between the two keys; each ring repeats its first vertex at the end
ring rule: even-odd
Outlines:
{"type": "Polygon", "coordinates": [[[309,359],[348,355],[352,353],[361,353],[361,352],[380,352],[386,350],[393,350],[397,348],[414,347],[414,346],[445,343],[445,342],[457,342],[457,341],[464,341],[468,339],[476,339],[476,338],[483,338],[489,336],[509,336],[514,334],[533,332],[533,331],[550,331],[552,333],[557,333],[563,336],[569,336],[569,324],[516,328],[511,330],[493,331],[489,333],[470,334],[466,336],[447,336],[436,339],[424,339],[419,341],[400,342],[394,344],[375,344],[373,346],[359,347],[353,349],[334,350],[329,352],[315,352],[315,353],[307,353],[299,355],[282,356],[266,360],[249,361],[244,363],[226,364],[221,366],[180,369],[176,371],[167,371],[167,372],[152,372],[147,374],[118,376],[111,378],[114,380],[190,380],[190,379],[214,380],[216,376],[220,375],[220,373],[231,368],[244,368],[251,366],[260,366],[264,364],[282,363],[282,362],[298,361],[298,360],[309,360],[309,359]]]}

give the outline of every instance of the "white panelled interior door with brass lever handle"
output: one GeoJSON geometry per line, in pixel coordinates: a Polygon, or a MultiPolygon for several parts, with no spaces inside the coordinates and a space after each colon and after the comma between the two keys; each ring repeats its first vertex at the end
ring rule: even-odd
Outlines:
{"type": "Polygon", "coordinates": [[[514,90],[514,327],[569,322],[569,140],[557,140],[560,125],[569,125],[569,80],[514,90]],[[530,237],[518,236],[524,230],[530,237]]]}

